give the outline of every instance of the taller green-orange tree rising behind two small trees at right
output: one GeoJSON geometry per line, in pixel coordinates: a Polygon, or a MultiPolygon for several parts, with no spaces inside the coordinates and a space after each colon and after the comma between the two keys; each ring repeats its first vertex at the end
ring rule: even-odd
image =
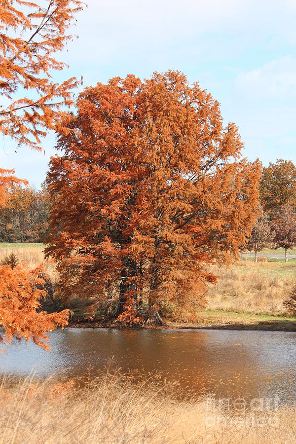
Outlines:
{"type": "Polygon", "coordinates": [[[273,218],[280,208],[291,205],[296,209],[296,167],[291,160],[277,159],[262,169],[260,201],[273,218]]]}

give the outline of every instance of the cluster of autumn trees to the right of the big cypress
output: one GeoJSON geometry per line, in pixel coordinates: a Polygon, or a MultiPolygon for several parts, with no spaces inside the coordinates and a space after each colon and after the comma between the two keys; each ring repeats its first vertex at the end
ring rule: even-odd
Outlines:
{"type": "Polygon", "coordinates": [[[262,169],[259,186],[259,217],[247,243],[248,251],[296,246],[296,167],[291,160],[277,159],[262,169]]]}

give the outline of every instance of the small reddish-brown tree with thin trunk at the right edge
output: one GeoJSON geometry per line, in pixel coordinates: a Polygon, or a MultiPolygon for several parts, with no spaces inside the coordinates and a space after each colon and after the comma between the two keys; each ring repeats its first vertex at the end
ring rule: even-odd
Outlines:
{"type": "Polygon", "coordinates": [[[275,248],[285,249],[285,261],[288,262],[287,250],[296,245],[296,216],[290,205],[284,205],[275,215],[272,229],[275,231],[275,248]]]}

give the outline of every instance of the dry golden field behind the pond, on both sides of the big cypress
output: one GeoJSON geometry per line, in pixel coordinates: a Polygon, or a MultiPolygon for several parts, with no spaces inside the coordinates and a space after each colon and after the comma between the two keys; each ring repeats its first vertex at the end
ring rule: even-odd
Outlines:
{"type": "MultiPolygon", "coordinates": [[[[51,259],[44,260],[43,248],[43,244],[2,243],[0,260],[14,253],[19,262],[27,263],[29,268],[43,262],[55,282],[58,278],[55,263],[51,259]]],[[[281,249],[273,252],[282,253],[281,249]]],[[[250,313],[261,316],[263,321],[270,317],[290,316],[283,301],[296,285],[296,259],[289,259],[287,263],[284,259],[259,263],[252,259],[241,259],[228,267],[212,266],[211,271],[219,276],[219,280],[208,292],[204,316],[212,316],[215,320],[218,315],[223,317],[226,313],[243,313],[242,319],[246,319],[250,313]]]]}

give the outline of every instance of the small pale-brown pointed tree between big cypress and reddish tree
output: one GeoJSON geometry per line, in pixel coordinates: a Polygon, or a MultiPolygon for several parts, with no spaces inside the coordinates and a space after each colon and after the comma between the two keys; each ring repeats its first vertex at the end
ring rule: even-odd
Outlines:
{"type": "Polygon", "coordinates": [[[271,248],[275,233],[271,231],[268,214],[259,206],[259,217],[253,225],[252,233],[247,242],[247,250],[255,252],[255,262],[257,262],[257,253],[263,248],[271,248]]]}

